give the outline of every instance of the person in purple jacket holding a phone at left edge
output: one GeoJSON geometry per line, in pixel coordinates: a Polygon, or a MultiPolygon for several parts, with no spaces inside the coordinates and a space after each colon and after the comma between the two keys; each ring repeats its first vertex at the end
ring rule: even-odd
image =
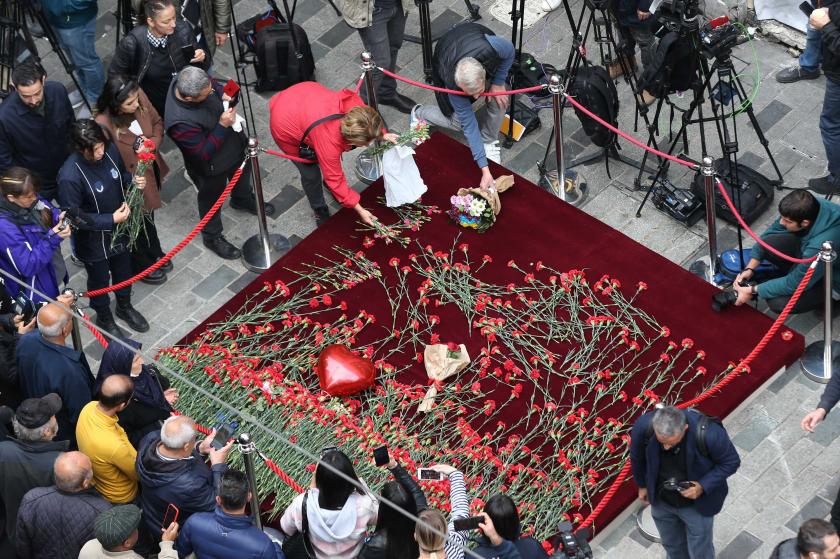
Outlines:
{"type": "Polygon", "coordinates": [[[70,236],[64,212],[38,195],[39,183],[30,171],[12,167],[0,177],[0,268],[26,284],[3,283],[12,297],[33,303],[54,299],[59,282],[66,283],[67,268],[61,243],[70,236]]]}

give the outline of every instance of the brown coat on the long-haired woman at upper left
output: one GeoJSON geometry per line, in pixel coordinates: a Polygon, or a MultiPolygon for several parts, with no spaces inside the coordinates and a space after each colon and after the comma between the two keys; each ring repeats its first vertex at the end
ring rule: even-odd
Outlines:
{"type": "MultiPolygon", "coordinates": [[[[140,90],[140,108],[134,113],[134,119],[140,124],[143,135],[160,147],[160,143],[163,141],[163,119],[160,118],[142,89],[140,90]]],[[[137,154],[134,152],[134,140],[137,136],[129,130],[122,130],[118,138],[108,111],[96,115],[96,122],[105,128],[106,136],[110,137],[116,144],[126,168],[134,173],[138,161],[137,154]]],[[[155,156],[160,169],[160,180],[163,182],[166,175],[169,174],[169,166],[167,166],[160,151],[156,151],[155,156]]],[[[160,201],[160,188],[161,185],[155,181],[154,168],[149,166],[146,170],[146,188],[143,189],[144,206],[147,210],[156,210],[163,205],[160,201]]]]}

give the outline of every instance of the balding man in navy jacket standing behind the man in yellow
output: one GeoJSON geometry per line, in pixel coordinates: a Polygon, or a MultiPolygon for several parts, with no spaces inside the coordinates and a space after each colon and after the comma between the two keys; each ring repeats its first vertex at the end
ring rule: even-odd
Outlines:
{"type": "MultiPolygon", "coordinates": [[[[59,300],[68,303],[64,296],[59,300]]],[[[38,330],[24,335],[17,345],[20,388],[24,398],[40,398],[51,392],[61,396],[62,408],[56,440],[75,446],[76,421],[90,402],[93,373],[84,353],[67,347],[73,330],[67,307],[50,303],[38,311],[38,330]]]]}

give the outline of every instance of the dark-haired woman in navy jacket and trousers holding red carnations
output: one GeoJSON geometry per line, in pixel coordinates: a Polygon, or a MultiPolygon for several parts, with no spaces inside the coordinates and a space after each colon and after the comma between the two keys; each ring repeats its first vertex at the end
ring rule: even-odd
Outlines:
{"type": "MultiPolygon", "coordinates": [[[[117,223],[128,219],[125,190],[132,180],[137,188],[146,186],[146,177],[133,176],[123,164],[116,146],[105,137],[96,121],[77,120],[70,128],[75,153],[58,172],[59,199],[64,207],[78,208],[85,219],[73,231],[76,256],[85,265],[89,291],[129,279],[131,256],[126,239],[112,242],[117,223]]],[[[131,304],[131,286],[116,292],[117,317],[137,332],[147,332],[149,323],[131,304]]],[[[96,324],[117,337],[123,333],[114,321],[108,294],[90,299],[96,311],[96,324]]]]}

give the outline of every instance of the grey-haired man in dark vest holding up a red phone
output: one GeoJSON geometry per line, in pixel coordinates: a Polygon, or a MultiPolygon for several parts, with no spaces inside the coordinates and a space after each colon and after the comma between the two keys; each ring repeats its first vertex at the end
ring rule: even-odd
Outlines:
{"type": "MultiPolygon", "coordinates": [[[[166,98],[164,128],[184,156],[184,167],[198,190],[198,214],[202,218],[245,158],[247,141],[242,123],[237,122],[236,107],[225,104],[229,101],[222,85],[195,66],[178,73],[166,98]]],[[[230,205],[256,214],[250,165],[245,165],[233,187],[230,205]]],[[[265,213],[273,215],[274,207],[266,204],[265,213]]],[[[241,253],[222,236],[222,229],[221,212],[216,212],[201,232],[204,246],[222,258],[236,260],[241,253]]]]}

